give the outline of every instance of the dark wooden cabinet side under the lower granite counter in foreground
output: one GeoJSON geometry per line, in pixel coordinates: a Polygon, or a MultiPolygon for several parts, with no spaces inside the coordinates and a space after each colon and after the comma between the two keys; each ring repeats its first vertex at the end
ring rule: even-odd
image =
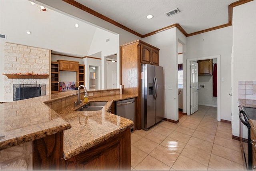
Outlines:
{"type": "Polygon", "coordinates": [[[68,159],[61,170],[130,170],[131,130],[125,131],[68,159]]]}

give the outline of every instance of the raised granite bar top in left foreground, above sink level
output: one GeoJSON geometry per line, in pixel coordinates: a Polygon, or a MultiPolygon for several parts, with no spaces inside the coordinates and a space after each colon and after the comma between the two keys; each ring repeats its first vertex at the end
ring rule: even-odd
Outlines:
{"type": "Polygon", "coordinates": [[[66,122],[43,101],[51,95],[0,104],[0,150],[66,129],[66,122]]]}

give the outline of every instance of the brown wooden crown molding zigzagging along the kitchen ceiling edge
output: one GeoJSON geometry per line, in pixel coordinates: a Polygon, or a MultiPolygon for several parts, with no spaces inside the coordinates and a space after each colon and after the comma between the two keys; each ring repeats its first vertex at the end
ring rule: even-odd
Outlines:
{"type": "Polygon", "coordinates": [[[194,36],[196,34],[201,34],[201,33],[209,32],[209,31],[212,31],[212,30],[217,30],[217,29],[220,29],[220,28],[232,26],[233,8],[236,7],[236,6],[245,4],[247,2],[253,1],[253,0],[238,0],[238,1],[233,2],[232,4],[230,4],[228,6],[228,23],[227,24],[222,24],[220,26],[215,26],[215,27],[212,27],[212,28],[208,28],[208,29],[201,30],[201,31],[198,31],[198,32],[194,32],[194,33],[190,33],[190,34],[187,34],[186,31],[180,26],[180,24],[172,24],[170,26],[161,28],[159,30],[156,30],[154,32],[150,32],[150,33],[144,34],[144,35],[139,34],[138,32],[135,32],[134,30],[132,30],[132,29],[130,29],[130,28],[128,28],[128,27],[126,27],[126,26],[124,26],[124,25],[122,25],[122,24],[120,24],[120,23],[118,23],[118,22],[116,22],[116,21],[114,21],[114,20],[112,20],[112,19],[110,19],[110,18],[108,18],[108,17],[106,17],[106,16],[104,16],[104,15],[102,15],[102,14],[100,14],[100,13],[98,13],[98,12],[80,4],[80,3],[78,3],[78,2],[76,2],[75,0],[62,0],[62,1],[68,3],[72,6],[75,6],[76,8],[79,8],[79,9],[85,11],[85,12],[88,12],[89,14],[92,14],[92,15],[94,15],[94,16],[102,19],[102,20],[105,20],[106,22],[109,22],[109,23],[111,23],[111,24],[113,24],[113,25],[115,25],[119,28],[122,28],[122,29],[136,35],[136,36],[139,36],[140,38],[146,38],[148,36],[152,36],[154,34],[157,34],[159,32],[162,32],[164,30],[168,30],[168,29],[174,28],[174,27],[176,27],[178,30],[180,30],[180,32],[182,32],[182,34],[184,34],[184,36],[189,37],[189,36],[194,36]]]}

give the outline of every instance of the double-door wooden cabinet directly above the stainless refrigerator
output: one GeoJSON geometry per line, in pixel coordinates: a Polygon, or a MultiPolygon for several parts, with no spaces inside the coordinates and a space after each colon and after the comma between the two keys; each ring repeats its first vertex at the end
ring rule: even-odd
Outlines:
{"type": "Polygon", "coordinates": [[[153,46],[140,44],[140,62],[142,64],[152,64],[159,66],[159,49],[153,46]]]}

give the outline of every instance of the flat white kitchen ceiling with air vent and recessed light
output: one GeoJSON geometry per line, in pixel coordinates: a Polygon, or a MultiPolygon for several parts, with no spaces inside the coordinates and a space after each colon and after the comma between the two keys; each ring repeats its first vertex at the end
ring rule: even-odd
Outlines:
{"type": "Polygon", "coordinates": [[[80,4],[145,35],[172,24],[187,34],[228,23],[228,5],[237,0],[76,0],[80,4]],[[178,8],[180,13],[167,17],[178,8]],[[146,16],[154,18],[148,20],[146,16]]]}

